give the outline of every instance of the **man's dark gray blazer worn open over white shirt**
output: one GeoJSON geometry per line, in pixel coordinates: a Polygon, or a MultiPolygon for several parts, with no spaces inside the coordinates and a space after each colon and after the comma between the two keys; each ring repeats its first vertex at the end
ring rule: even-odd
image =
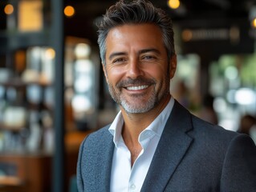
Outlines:
{"type": "MultiPolygon", "coordinates": [[[[114,144],[108,127],[80,146],[79,192],[110,190],[114,144]]],[[[202,121],[175,101],[141,191],[256,191],[254,142],[202,121]]]]}

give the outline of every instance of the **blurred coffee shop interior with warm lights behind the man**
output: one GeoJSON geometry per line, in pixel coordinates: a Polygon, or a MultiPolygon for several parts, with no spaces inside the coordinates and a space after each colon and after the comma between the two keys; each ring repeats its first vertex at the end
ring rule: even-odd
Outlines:
{"type": "MultiPolygon", "coordinates": [[[[79,144],[119,110],[95,27],[114,2],[0,1],[0,191],[75,191],[79,144]]],[[[173,18],[173,97],[256,141],[256,1],[152,2],[173,18]]]]}

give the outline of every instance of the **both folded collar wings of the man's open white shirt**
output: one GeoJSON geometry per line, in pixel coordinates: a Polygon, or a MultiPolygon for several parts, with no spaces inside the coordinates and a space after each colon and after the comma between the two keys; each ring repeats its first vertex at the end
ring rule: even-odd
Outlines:
{"type": "MultiPolygon", "coordinates": [[[[165,106],[165,109],[161,111],[161,114],[159,114],[155,120],[145,129],[146,132],[148,130],[150,132],[152,131],[154,134],[160,137],[165,128],[167,119],[169,118],[169,114],[171,114],[173,110],[173,105],[174,99],[172,97],[167,106],[165,106]]],[[[116,114],[116,118],[112,122],[112,125],[108,128],[109,132],[113,135],[113,142],[115,145],[120,141],[123,125],[124,118],[121,111],[119,111],[119,113],[116,114]]],[[[145,132],[145,130],[143,132],[145,132]]]]}

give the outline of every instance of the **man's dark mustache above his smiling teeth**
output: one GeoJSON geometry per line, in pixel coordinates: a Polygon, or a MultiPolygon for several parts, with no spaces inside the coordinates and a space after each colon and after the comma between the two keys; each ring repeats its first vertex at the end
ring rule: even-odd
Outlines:
{"type": "Polygon", "coordinates": [[[122,88],[126,86],[140,86],[140,85],[152,85],[156,84],[156,81],[152,78],[128,78],[122,80],[116,84],[116,87],[122,88]]]}

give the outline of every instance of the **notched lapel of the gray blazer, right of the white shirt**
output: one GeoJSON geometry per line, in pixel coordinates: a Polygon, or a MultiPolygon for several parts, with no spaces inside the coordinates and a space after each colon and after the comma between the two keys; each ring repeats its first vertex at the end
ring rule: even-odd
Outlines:
{"type": "Polygon", "coordinates": [[[192,125],[189,111],[176,101],[156,147],[141,191],[165,190],[165,186],[193,140],[186,134],[190,129],[192,125]]]}

